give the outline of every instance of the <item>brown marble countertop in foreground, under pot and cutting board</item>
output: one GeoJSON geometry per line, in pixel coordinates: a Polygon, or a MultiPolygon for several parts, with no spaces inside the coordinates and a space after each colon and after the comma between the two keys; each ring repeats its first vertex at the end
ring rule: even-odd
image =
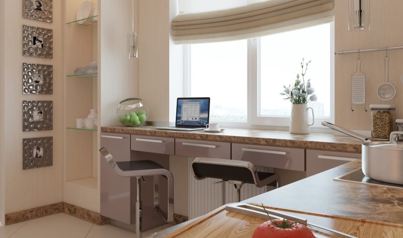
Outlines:
{"type": "MultiPolygon", "coordinates": [[[[402,188],[333,180],[359,168],[361,160],[350,162],[242,202],[263,203],[266,207],[283,211],[354,217],[403,225],[402,188]]],[[[190,222],[172,226],[149,237],[163,237],[190,222]]]]}

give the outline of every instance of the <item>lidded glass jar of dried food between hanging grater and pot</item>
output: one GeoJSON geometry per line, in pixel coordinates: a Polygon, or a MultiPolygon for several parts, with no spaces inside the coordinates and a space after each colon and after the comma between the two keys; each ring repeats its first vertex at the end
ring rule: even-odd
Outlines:
{"type": "Polygon", "coordinates": [[[388,140],[393,131],[395,105],[370,105],[372,119],[372,138],[388,140]]]}

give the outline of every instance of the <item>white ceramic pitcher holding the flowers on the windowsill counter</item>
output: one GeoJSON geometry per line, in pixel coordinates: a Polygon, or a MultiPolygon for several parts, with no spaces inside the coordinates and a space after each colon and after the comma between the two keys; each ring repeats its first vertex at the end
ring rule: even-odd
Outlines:
{"type": "Polygon", "coordinates": [[[310,126],[315,122],[313,109],[306,104],[293,104],[291,108],[290,132],[293,134],[309,134],[310,126]],[[312,112],[312,124],[308,122],[308,110],[312,112]]]}

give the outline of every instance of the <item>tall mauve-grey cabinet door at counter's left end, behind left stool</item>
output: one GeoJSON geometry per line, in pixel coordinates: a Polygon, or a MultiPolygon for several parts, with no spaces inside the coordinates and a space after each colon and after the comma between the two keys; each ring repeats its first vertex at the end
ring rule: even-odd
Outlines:
{"type": "MultiPolygon", "coordinates": [[[[130,135],[101,133],[101,147],[105,147],[117,162],[130,161],[130,135]]],[[[130,224],[132,214],[135,214],[130,201],[132,178],[115,174],[101,155],[100,160],[101,214],[130,224]]]]}

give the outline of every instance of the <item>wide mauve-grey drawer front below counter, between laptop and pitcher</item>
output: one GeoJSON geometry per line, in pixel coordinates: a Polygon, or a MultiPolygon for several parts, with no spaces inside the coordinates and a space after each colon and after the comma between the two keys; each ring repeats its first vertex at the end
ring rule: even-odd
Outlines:
{"type": "Polygon", "coordinates": [[[298,148],[233,143],[232,159],[256,166],[305,171],[305,151],[298,148]]]}

